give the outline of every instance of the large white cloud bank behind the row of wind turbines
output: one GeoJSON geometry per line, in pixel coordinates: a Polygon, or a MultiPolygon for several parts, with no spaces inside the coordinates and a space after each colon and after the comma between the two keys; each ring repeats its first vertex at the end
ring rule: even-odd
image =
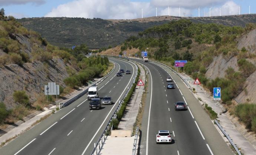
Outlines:
{"type": "MultiPolygon", "coordinates": [[[[61,4],[52,9],[45,17],[84,17],[84,18],[103,18],[103,19],[133,19],[155,16],[155,7],[158,16],[168,15],[168,4],[170,15],[179,16],[178,7],[181,6],[181,16],[191,16],[198,6],[201,14],[205,7],[221,6],[222,15],[229,14],[229,7],[232,14],[237,14],[237,4],[227,0],[151,0],[150,2],[138,2],[130,0],[74,0],[69,3],[61,4]],[[226,3],[225,3],[226,2],[226,3]]],[[[209,10],[206,10],[209,14],[209,10]]],[[[211,16],[217,16],[218,8],[211,9],[211,16]]]]}

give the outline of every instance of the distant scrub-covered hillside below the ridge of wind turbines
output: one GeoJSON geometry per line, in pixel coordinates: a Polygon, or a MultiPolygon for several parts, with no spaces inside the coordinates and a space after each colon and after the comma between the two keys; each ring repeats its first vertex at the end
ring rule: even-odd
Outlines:
{"type": "Polygon", "coordinates": [[[193,23],[217,23],[226,26],[242,26],[255,23],[255,14],[216,17],[158,16],[132,20],[103,20],[100,18],[42,17],[18,19],[24,27],[39,32],[49,43],[60,47],[72,47],[85,43],[91,49],[116,46],[140,31],[169,23],[173,20],[189,19],[193,23]]]}

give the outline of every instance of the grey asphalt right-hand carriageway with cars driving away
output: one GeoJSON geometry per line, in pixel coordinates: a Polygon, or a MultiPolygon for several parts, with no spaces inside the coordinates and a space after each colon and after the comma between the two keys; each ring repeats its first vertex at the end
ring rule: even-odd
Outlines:
{"type": "MultiPolygon", "coordinates": [[[[152,103],[150,108],[150,115],[148,115],[149,124],[142,124],[142,128],[147,129],[147,137],[142,137],[141,144],[146,144],[147,148],[142,149],[140,152],[142,155],[154,155],[154,154],[194,154],[194,155],[207,155],[207,154],[232,154],[231,150],[224,143],[220,134],[214,128],[207,114],[203,111],[198,103],[191,102],[190,96],[184,90],[188,89],[183,84],[183,82],[178,79],[177,75],[171,74],[174,78],[172,83],[175,84],[175,89],[167,90],[166,77],[170,76],[169,73],[162,67],[157,64],[148,62],[144,63],[141,60],[140,63],[147,66],[152,75],[152,103]],[[176,85],[177,84],[177,85],[176,85]],[[182,89],[180,89],[182,88],[182,89]],[[185,97],[183,95],[186,95],[185,97]],[[188,96],[188,97],[187,97],[188,96]],[[183,101],[187,103],[187,111],[175,111],[174,103],[177,101],[183,101]],[[198,106],[198,107],[196,107],[198,106]],[[190,108],[193,107],[193,108],[190,108]],[[200,108],[197,111],[194,108],[200,108]],[[197,114],[193,113],[193,109],[197,114]],[[205,115],[204,115],[205,114],[205,115]],[[207,125],[211,125],[210,131],[213,134],[202,132],[201,119],[197,123],[197,117],[194,118],[194,115],[201,115],[207,125]],[[148,126],[148,127],[145,127],[148,126]],[[156,133],[158,130],[169,130],[172,133],[172,144],[170,145],[158,145],[156,144],[156,133]],[[216,131],[216,132],[215,132],[216,131]],[[205,135],[209,134],[209,135],[205,135]],[[216,138],[209,138],[215,136],[216,138]],[[205,138],[207,137],[207,138],[205,138]],[[211,140],[214,140],[213,142],[211,140]],[[143,142],[147,141],[147,142],[143,142]],[[217,144],[214,144],[217,143],[217,144]],[[215,145],[215,146],[214,146],[215,145]],[[216,145],[219,147],[219,150],[216,149],[216,145]],[[222,145],[222,146],[220,146],[222,145]],[[211,149],[214,148],[214,151],[211,149]]],[[[189,91],[189,90],[188,90],[189,91]]],[[[191,94],[192,95],[192,94],[191,94]]],[[[145,118],[143,118],[145,119],[145,118]]],[[[145,121],[143,121],[145,122],[145,121]]],[[[204,127],[203,127],[204,128],[204,127]]]]}

